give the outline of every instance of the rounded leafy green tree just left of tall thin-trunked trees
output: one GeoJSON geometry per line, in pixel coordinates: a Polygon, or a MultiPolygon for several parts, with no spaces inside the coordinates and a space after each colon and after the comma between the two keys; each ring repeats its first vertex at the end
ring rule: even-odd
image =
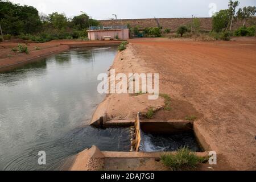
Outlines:
{"type": "Polygon", "coordinates": [[[212,18],[213,31],[221,32],[229,25],[229,10],[220,10],[212,18]]]}

